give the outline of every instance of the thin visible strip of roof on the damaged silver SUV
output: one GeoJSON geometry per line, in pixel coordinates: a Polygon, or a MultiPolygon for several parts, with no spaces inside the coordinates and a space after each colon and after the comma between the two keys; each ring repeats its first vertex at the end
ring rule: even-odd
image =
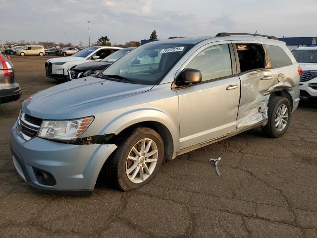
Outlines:
{"type": "Polygon", "coordinates": [[[216,42],[216,41],[261,41],[264,44],[273,43],[274,44],[281,44],[285,45],[285,42],[269,39],[267,37],[260,37],[260,36],[221,36],[221,37],[215,37],[215,36],[203,36],[203,37],[179,37],[179,38],[173,38],[173,39],[167,39],[167,40],[160,40],[151,42],[148,44],[158,44],[158,43],[176,43],[176,44],[192,44],[196,45],[202,41],[208,41],[208,42],[216,42]]]}

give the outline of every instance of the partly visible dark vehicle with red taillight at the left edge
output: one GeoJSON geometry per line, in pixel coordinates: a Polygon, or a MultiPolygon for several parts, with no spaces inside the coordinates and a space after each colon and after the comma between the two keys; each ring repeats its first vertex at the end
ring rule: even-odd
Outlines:
{"type": "Polygon", "coordinates": [[[0,53],[0,104],[16,101],[21,94],[19,84],[14,83],[13,64],[0,53]]]}

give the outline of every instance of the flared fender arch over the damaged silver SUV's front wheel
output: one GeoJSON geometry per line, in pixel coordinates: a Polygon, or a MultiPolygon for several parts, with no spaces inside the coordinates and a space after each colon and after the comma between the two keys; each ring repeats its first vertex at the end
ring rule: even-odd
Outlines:
{"type": "Polygon", "coordinates": [[[180,149],[179,125],[169,114],[157,108],[143,108],[125,112],[107,122],[100,134],[119,134],[125,128],[140,122],[156,121],[169,130],[173,139],[174,152],[180,149]]]}

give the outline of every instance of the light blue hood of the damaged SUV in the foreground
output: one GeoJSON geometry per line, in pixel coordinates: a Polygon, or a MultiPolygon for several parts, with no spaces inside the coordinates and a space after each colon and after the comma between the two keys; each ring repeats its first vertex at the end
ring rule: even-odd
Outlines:
{"type": "Polygon", "coordinates": [[[22,111],[41,119],[88,117],[106,112],[107,103],[148,91],[152,87],[153,85],[86,77],[59,84],[32,95],[23,102],[22,111]],[[98,107],[100,105],[102,107],[98,107]]]}

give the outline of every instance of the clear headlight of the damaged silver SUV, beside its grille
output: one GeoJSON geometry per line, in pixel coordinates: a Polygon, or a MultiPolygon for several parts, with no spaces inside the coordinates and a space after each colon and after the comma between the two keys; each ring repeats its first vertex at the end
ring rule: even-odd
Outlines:
{"type": "Polygon", "coordinates": [[[73,120],[44,120],[38,136],[55,140],[76,139],[88,128],[93,120],[93,117],[73,120]]]}

